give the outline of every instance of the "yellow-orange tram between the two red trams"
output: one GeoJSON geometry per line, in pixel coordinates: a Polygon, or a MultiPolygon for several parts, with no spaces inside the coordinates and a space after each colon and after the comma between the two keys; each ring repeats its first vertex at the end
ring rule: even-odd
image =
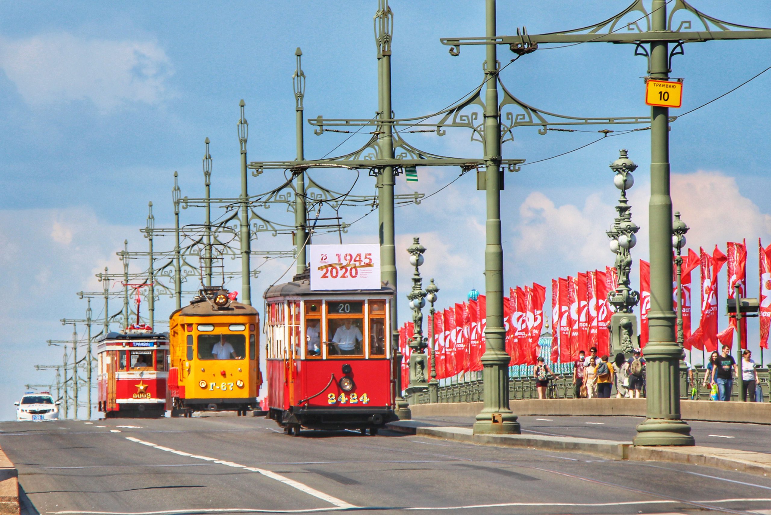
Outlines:
{"type": "Polygon", "coordinates": [[[260,317],[235,295],[207,286],[189,305],[171,313],[167,410],[236,411],[257,406],[262,377],[260,317]]]}

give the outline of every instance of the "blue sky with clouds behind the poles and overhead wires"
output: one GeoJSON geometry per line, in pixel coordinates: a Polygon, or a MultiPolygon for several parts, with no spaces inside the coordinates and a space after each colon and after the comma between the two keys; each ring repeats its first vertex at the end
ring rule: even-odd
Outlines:
{"type": "MultiPolygon", "coordinates": [[[[483,48],[466,47],[452,57],[439,38],[483,35],[484,2],[390,3],[395,15],[392,76],[397,116],[436,112],[481,82],[483,48]]],[[[692,3],[715,18],[771,26],[771,9],[760,0],[692,3]]],[[[628,2],[498,4],[498,31],[507,34],[522,25],[531,33],[591,25],[620,12],[628,2]]],[[[84,316],[85,301],[75,293],[101,289],[93,274],[104,266],[118,271],[115,252],[123,239],[129,239],[132,250],[146,249],[138,229],[144,226],[147,202],[155,204],[158,227],[172,226],[173,171],[180,173],[183,196],[202,196],[204,138],[211,139],[214,159],[212,195],[237,195],[240,99],[246,102],[249,121],[249,159],[294,158],[291,74],[296,47],[304,52],[308,76],[306,118],[374,115],[376,5],[375,0],[322,0],[0,6],[0,123],[5,129],[0,145],[0,284],[6,293],[0,301],[5,328],[0,419],[13,415],[12,401],[24,383],[51,380],[52,375],[35,372],[32,365],[61,361],[60,349],[45,346],[45,340],[69,337],[69,327],[59,319],[84,316]]],[[[633,53],[631,45],[544,48],[510,65],[502,79],[518,98],[550,112],[648,115],[645,60],[633,53]]],[[[499,48],[503,64],[512,57],[507,48],[499,48]]],[[[769,61],[769,41],[686,45],[685,56],[674,58],[672,72],[685,79],[681,111],[721,95],[771,65],[769,61]]],[[[675,209],[692,227],[689,245],[711,250],[719,243],[725,249],[726,240],[747,238],[750,292],[757,289],[757,238],[771,242],[769,85],[771,72],[678,120],[671,132],[672,195],[675,209]]],[[[305,134],[308,158],[324,156],[346,137],[315,136],[307,127],[305,134]]],[[[466,133],[408,136],[412,144],[439,154],[481,155],[480,145],[470,142],[466,133]]],[[[367,137],[355,135],[335,153],[356,149],[367,137]]],[[[535,129],[517,129],[515,137],[504,145],[503,155],[532,162],[597,135],[538,135],[535,129]]],[[[507,176],[502,194],[506,286],[533,281],[548,285],[553,277],[612,264],[604,230],[614,216],[618,190],[607,167],[621,148],[629,149],[640,166],[631,190],[633,217],[642,227],[634,253],[647,258],[650,144],[643,131],[608,138],[507,176]]],[[[416,189],[433,192],[457,173],[420,169],[416,189]]],[[[345,191],[355,174],[319,171],[314,177],[345,191]]],[[[251,178],[250,192],[271,189],[281,179],[280,172],[251,178]]],[[[402,179],[399,191],[412,191],[413,186],[402,179]]],[[[372,180],[364,176],[355,188],[360,194],[374,190],[372,180]]],[[[351,209],[342,214],[352,220],[364,213],[351,209]]],[[[265,215],[284,223],[292,219],[276,206],[265,215]]],[[[203,220],[200,209],[187,209],[182,216],[183,223],[203,220]]],[[[421,236],[428,247],[423,272],[436,276],[439,305],[460,301],[471,288],[483,289],[484,199],[476,192],[473,174],[420,206],[397,209],[396,219],[399,251],[412,236],[421,236]]],[[[376,242],[376,221],[374,213],[366,217],[344,235],[344,242],[376,242]]],[[[332,236],[318,240],[334,242],[332,236]]],[[[169,249],[171,242],[158,239],[156,245],[169,249]]],[[[253,244],[259,249],[290,246],[288,236],[263,234],[253,244]]],[[[399,259],[399,287],[406,291],[406,252],[399,259]]],[[[288,266],[289,261],[274,260],[261,268],[253,285],[255,304],[288,266]]],[[[636,266],[633,276],[636,285],[636,266]]],[[[400,305],[400,318],[406,319],[403,299],[400,305]]],[[[162,299],[158,318],[172,306],[162,299]]],[[[95,306],[95,316],[100,309],[95,306]]],[[[725,326],[722,319],[721,328],[725,326]]],[[[751,321],[750,328],[751,336],[756,335],[756,322],[751,321]]]]}

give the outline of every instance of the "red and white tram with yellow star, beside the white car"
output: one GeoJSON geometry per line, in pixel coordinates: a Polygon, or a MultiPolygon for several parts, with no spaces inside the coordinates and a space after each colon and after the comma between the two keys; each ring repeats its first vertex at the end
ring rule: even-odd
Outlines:
{"type": "Polygon", "coordinates": [[[97,339],[99,411],[106,418],[163,416],[169,335],[134,324],[97,339]]]}

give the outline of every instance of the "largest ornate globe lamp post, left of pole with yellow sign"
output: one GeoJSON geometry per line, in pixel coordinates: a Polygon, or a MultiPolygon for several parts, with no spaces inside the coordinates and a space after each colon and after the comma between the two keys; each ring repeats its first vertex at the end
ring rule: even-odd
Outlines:
{"type": "Polygon", "coordinates": [[[629,275],[631,273],[631,253],[637,245],[635,233],[640,229],[631,221],[631,206],[627,202],[626,192],[635,184],[632,172],[637,165],[627,156],[626,150],[621,150],[620,157],[611,163],[611,170],[615,172],[614,185],[621,190],[618,199],[618,216],[614,219],[611,229],[606,232],[611,239],[611,251],[616,255],[615,266],[618,271],[618,286],[608,293],[608,302],[614,308],[611,316],[611,353],[625,353],[630,356],[637,341],[637,319],[632,314],[632,309],[640,302],[640,294],[630,287],[629,275]]]}

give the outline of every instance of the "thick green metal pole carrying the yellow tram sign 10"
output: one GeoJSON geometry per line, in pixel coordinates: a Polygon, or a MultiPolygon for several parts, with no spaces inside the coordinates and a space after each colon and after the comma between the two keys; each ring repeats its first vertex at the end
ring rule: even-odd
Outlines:
{"type": "MultiPolygon", "coordinates": [[[[653,31],[667,28],[666,0],[653,0],[653,31]]],[[[652,79],[669,78],[667,42],[651,42],[652,79]]],[[[635,445],[694,445],[691,427],[680,417],[680,347],[672,309],[672,197],[669,195],[669,109],[651,107],[650,339],[645,346],[648,376],[646,420],[635,445]]]]}

